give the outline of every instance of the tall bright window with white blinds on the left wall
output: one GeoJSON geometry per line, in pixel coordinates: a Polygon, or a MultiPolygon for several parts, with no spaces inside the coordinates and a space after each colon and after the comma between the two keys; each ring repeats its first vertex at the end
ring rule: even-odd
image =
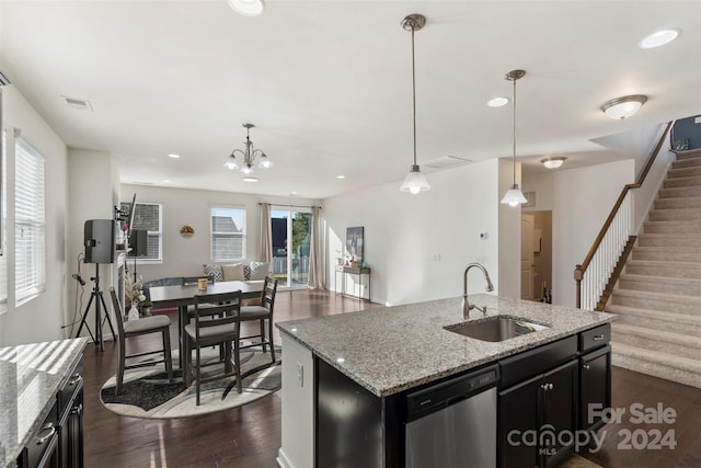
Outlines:
{"type": "Polygon", "coordinates": [[[44,158],[23,139],[15,144],[14,292],[18,304],[44,290],[46,244],[44,158]]]}

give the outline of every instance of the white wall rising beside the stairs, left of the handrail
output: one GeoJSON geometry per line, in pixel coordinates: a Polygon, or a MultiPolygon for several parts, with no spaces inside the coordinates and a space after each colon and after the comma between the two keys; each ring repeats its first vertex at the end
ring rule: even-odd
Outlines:
{"type": "Polygon", "coordinates": [[[625,184],[635,161],[611,162],[524,178],[524,192],[537,193],[529,210],[552,210],[553,304],[575,306],[574,267],[582,263],[625,184]]]}

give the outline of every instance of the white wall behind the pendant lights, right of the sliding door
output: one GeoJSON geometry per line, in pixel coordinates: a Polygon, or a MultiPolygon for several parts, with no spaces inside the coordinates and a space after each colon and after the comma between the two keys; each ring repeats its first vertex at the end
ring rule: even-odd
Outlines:
{"type": "MultiPolygon", "coordinates": [[[[398,181],[326,199],[330,288],[336,288],[333,263],[346,228],[363,226],[375,301],[398,305],[460,296],[464,267],[475,261],[486,266],[501,294],[502,270],[514,269],[518,275],[520,259],[519,241],[510,242],[516,246],[510,262],[499,258],[499,229],[513,224],[506,218],[516,218],[520,232],[520,210],[503,213],[499,205],[506,190],[499,178],[504,168],[492,159],[429,174],[432,190],[418,195],[399,192],[398,181]],[[480,232],[487,238],[481,240],[480,232]]],[[[510,164],[507,169],[510,185],[510,164]]],[[[471,294],[484,292],[484,279],[471,272],[469,286],[471,294]]]]}

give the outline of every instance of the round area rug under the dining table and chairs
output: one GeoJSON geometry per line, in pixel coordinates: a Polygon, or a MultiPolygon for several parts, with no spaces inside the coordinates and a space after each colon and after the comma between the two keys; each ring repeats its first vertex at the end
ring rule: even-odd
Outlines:
{"type": "MultiPolygon", "coordinates": [[[[219,349],[203,350],[203,359],[218,358],[219,349]]],[[[195,404],[195,384],[185,388],[181,369],[173,369],[173,384],[168,383],[163,365],[129,369],[124,376],[124,391],[115,395],[115,376],[102,387],[102,404],[117,414],[133,418],[169,419],[207,414],[237,408],[266,397],[281,387],[281,350],[275,347],[277,362],[271,363],[269,350],[260,347],[241,350],[242,392],[235,390],[235,378],[227,377],[203,384],[199,392],[200,404],[195,404]]],[[[194,353],[193,353],[194,354],[194,353]]],[[[177,363],[177,350],[173,351],[173,363],[177,363]]],[[[158,357],[156,357],[158,359],[158,357]]],[[[221,373],[222,367],[212,366],[207,375],[221,373]]]]}

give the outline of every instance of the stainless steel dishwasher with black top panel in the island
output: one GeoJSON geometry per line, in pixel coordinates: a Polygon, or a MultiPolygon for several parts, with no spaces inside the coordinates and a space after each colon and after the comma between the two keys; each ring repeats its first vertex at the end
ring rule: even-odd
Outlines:
{"type": "Polygon", "coordinates": [[[406,468],[496,466],[493,365],[406,396],[406,468]]]}

